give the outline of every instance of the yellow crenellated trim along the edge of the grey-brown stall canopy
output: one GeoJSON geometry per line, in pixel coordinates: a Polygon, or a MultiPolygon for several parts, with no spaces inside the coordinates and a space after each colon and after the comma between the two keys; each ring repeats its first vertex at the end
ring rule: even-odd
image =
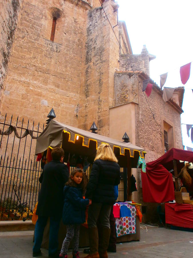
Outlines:
{"type": "MultiPolygon", "coordinates": [[[[98,149],[98,142],[97,142],[97,140],[95,140],[95,139],[89,138],[89,139],[88,139],[88,145],[86,145],[86,144],[84,144],[84,136],[82,136],[82,135],[80,135],[80,134],[75,134],[74,140],[70,140],[70,136],[71,136],[70,132],[68,132],[68,131],[66,131],[66,130],[63,130],[63,132],[69,134],[69,137],[68,137],[68,141],[69,141],[69,142],[75,143],[75,141],[76,141],[76,136],[79,136],[79,137],[81,137],[81,138],[83,139],[83,140],[82,140],[82,146],[89,148],[90,141],[94,141],[94,142],[96,142],[96,150],[98,149]]],[[[109,144],[109,143],[107,143],[107,142],[101,142],[101,143],[109,144]]],[[[62,146],[61,146],[61,147],[62,147],[62,146]]],[[[53,149],[51,146],[49,146],[48,148],[53,149]]],[[[125,150],[129,150],[130,157],[131,157],[131,158],[134,158],[134,156],[131,155],[131,150],[130,150],[129,148],[124,148],[124,153],[121,153],[121,147],[120,147],[120,146],[113,145],[113,152],[114,152],[114,148],[119,148],[119,150],[120,150],[120,155],[122,155],[122,156],[125,156],[125,150]]],[[[137,151],[137,152],[139,153],[139,155],[140,155],[140,151],[139,151],[139,150],[133,150],[133,152],[135,152],[135,151],[137,151]]],[[[140,155],[140,157],[141,157],[142,159],[144,159],[144,153],[146,153],[146,151],[142,151],[142,153],[143,153],[143,156],[140,155]]]]}

